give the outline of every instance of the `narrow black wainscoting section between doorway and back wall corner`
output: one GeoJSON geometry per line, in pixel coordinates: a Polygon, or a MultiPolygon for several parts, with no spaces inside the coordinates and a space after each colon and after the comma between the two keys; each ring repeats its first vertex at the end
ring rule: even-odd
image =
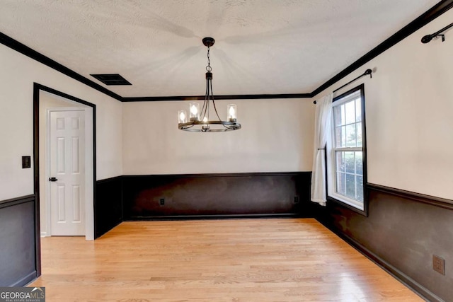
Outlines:
{"type": "Polygon", "coordinates": [[[94,202],[94,238],[122,221],[122,176],[98,180],[94,202]]]}

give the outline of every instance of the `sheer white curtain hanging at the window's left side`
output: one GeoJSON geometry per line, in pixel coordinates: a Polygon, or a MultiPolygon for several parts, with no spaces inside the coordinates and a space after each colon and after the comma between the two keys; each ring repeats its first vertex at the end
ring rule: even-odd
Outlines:
{"type": "Polygon", "coordinates": [[[326,142],[331,135],[333,93],[316,101],[311,201],[326,205],[326,142]]]}

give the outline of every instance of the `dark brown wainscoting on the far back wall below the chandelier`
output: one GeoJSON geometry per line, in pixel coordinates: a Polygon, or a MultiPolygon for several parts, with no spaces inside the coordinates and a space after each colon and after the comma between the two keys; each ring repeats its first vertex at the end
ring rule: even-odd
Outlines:
{"type": "Polygon", "coordinates": [[[124,176],[124,219],[311,216],[310,181],[309,172],[124,176]]]}

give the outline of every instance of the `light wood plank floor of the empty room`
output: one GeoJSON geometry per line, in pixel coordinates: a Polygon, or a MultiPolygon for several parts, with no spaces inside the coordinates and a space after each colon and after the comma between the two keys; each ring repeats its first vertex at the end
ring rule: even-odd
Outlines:
{"type": "Polygon", "coordinates": [[[51,301],[423,301],[314,219],[124,222],[42,238],[51,301]]]}

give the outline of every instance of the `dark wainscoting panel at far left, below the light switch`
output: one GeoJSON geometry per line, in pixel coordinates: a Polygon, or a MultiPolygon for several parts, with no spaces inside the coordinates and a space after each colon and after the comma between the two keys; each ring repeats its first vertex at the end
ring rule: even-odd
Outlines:
{"type": "Polygon", "coordinates": [[[38,277],[35,196],[0,202],[0,286],[25,286],[38,277]]]}

